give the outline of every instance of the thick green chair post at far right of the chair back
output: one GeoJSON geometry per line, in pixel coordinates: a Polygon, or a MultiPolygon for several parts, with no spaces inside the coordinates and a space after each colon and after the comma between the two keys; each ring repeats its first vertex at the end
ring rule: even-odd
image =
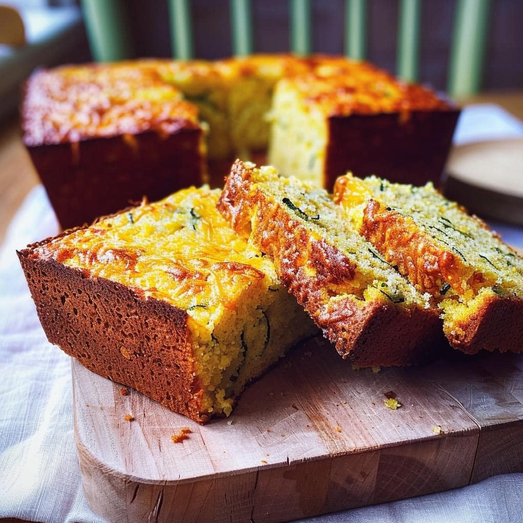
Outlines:
{"type": "Polygon", "coordinates": [[[480,89],[489,10],[490,0],[458,0],[447,87],[451,96],[480,89]]]}

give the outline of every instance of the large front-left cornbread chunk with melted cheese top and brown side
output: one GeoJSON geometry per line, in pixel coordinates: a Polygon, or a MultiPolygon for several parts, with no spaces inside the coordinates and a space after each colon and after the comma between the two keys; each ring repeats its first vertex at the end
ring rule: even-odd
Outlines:
{"type": "Polygon", "coordinates": [[[317,330],[219,194],[181,190],[18,253],[51,343],[198,422],[317,330]]]}

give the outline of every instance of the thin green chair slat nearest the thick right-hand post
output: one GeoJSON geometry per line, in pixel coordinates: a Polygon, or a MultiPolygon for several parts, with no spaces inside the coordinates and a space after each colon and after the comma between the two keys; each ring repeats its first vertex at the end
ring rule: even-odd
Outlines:
{"type": "Polygon", "coordinates": [[[397,32],[397,76],[416,82],[419,76],[421,0],[401,0],[397,32]]]}

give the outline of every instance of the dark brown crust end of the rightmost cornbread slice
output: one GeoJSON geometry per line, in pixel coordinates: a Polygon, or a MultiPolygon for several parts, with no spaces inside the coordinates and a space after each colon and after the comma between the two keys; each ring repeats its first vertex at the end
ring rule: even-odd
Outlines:
{"type": "Polygon", "coordinates": [[[452,347],[465,354],[480,350],[523,352],[523,300],[491,296],[467,323],[457,325],[463,334],[447,333],[452,347]]]}

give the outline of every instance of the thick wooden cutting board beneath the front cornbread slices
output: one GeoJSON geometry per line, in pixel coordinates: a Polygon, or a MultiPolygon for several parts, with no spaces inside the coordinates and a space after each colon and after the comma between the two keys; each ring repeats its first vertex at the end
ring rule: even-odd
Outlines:
{"type": "Polygon", "coordinates": [[[73,360],[84,490],[111,521],[287,521],[523,471],[523,355],[374,373],[317,338],[204,426],[120,389],[73,360]]]}

